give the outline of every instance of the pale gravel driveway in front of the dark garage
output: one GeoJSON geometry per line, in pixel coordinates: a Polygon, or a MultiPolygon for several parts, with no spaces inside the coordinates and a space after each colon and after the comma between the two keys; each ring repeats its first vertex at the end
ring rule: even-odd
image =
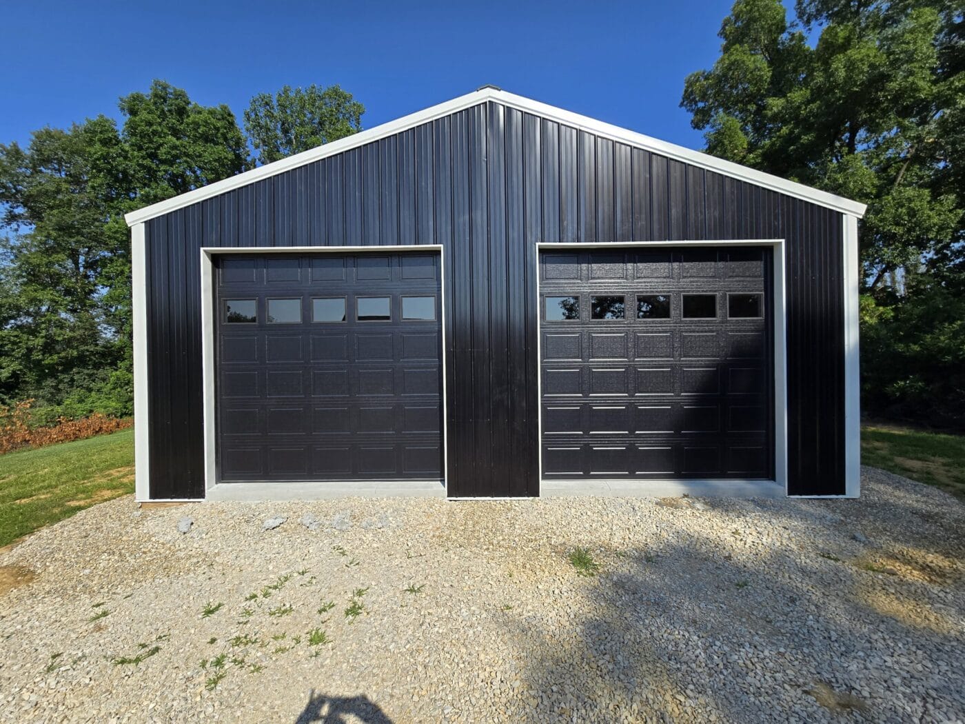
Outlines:
{"type": "Polygon", "coordinates": [[[965,719],[965,506],[863,495],[124,497],[0,555],[0,720],[965,719]]]}

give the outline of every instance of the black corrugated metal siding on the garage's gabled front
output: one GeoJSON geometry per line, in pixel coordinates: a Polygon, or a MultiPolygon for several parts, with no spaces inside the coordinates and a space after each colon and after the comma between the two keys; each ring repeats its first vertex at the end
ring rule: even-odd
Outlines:
{"type": "Polygon", "coordinates": [[[445,248],[450,494],[538,494],[538,241],[786,238],[789,489],[844,492],[841,214],[484,103],[147,224],[152,497],[204,494],[201,246],[445,248]]]}

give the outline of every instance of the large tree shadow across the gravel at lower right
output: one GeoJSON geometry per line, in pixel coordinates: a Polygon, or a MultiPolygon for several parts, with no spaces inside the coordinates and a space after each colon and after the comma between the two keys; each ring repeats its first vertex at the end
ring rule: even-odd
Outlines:
{"type": "MultiPolygon", "coordinates": [[[[930,513],[914,493],[894,492],[876,504],[904,509],[893,511],[899,517],[930,513]]],[[[848,503],[728,504],[714,515],[729,518],[732,534],[704,538],[679,529],[649,550],[624,549],[612,558],[604,552],[603,571],[563,626],[536,617],[517,623],[520,647],[529,652],[526,719],[825,721],[848,712],[852,720],[877,722],[960,715],[960,689],[950,677],[965,666],[965,606],[954,602],[965,599],[953,593],[960,582],[936,589],[861,568],[862,551],[885,536],[856,542],[856,521],[847,513],[861,503],[848,503]],[[808,524],[829,513],[838,519],[823,521],[815,536],[808,524]],[[778,521],[791,543],[747,536],[758,515],[778,521]],[[825,557],[829,551],[834,560],[825,557]],[[922,625],[927,618],[933,625],[922,625]]],[[[932,522],[932,535],[945,527],[932,522]]],[[[902,538],[893,535],[885,540],[902,538]]]]}

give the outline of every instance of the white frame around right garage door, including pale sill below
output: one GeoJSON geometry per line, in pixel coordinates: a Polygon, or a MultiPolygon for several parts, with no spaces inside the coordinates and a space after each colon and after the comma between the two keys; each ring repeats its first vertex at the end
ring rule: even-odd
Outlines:
{"type": "MultiPolygon", "coordinates": [[[[537,244],[537,255],[544,251],[568,249],[585,251],[587,249],[620,248],[670,248],[695,246],[770,246],[773,257],[773,298],[774,311],[774,479],[687,479],[660,480],[544,480],[542,474],[542,314],[539,306],[539,273],[537,272],[536,303],[538,385],[538,434],[539,434],[539,494],[555,495],[727,495],[732,497],[784,497],[787,494],[787,343],[786,343],[786,283],[785,283],[785,240],[783,238],[728,239],[728,240],[686,240],[686,241],[594,241],[594,242],[552,242],[541,241],[537,244]]],[[[539,259],[537,258],[537,265],[539,259]]]]}

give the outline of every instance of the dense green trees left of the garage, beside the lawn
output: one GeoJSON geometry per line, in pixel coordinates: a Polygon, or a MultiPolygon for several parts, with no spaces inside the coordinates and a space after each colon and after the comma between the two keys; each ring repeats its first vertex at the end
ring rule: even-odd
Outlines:
{"type": "Polygon", "coordinates": [[[225,106],[163,81],[104,116],[0,144],[0,398],[129,413],[130,241],[124,213],[243,171],[225,106]]]}

